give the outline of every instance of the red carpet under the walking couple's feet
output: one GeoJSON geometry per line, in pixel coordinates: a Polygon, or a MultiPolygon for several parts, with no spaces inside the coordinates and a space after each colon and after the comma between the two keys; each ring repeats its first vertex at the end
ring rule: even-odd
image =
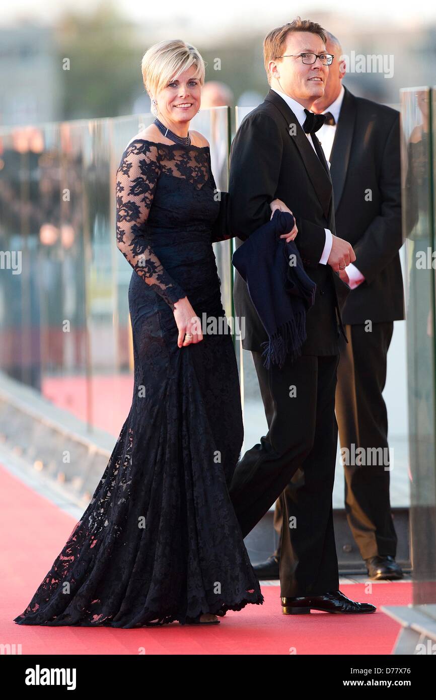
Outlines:
{"type": "MultiPolygon", "coordinates": [[[[227,612],[219,625],[147,629],[20,626],[13,617],[29,603],[75,521],[0,466],[2,643],[22,654],[390,654],[400,625],[372,615],[281,615],[279,587],[264,586],[263,605],[227,612]],[[294,651],[295,650],[295,651],[294,651]]],[[[347,596],[374,605],[407,605],[409,582],[342,586],[347,596]]]]}

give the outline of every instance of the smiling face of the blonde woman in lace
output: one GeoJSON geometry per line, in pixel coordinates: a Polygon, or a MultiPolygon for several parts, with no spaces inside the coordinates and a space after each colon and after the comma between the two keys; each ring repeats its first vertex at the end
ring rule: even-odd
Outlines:
{"type": "Polygon", "coordinates": [[[189,122],[200,109],[202,85],[194,78],[196,66],[191,66],[171,80],[156,95],[159,116],[171,122],[189,122]]]}

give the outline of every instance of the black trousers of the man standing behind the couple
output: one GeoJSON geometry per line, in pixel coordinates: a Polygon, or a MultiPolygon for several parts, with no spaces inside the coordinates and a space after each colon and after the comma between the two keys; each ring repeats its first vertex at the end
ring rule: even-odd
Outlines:
{"type": "MultiPolygon", "coordinates": [[[[344,463],[346,517],[363,559],[395,557],[397,535],[389,497],[388,416],[382,392],[386,384],[387,355],[393,321],[346,324],[348,344],[343,343],[337,370],[336,414],[341,449],[379,449],[383,463],[344,463]],[[353,448],[354,446],[354,448],[353,448]]],[[[298,488],[297,483],[290,488],[298,488]]],[[[276,502],[274,528],[279,535],[283,521],[281,500],[276,502]]],[[[280,545],[276,556],[280,556],[280,545]]]]}

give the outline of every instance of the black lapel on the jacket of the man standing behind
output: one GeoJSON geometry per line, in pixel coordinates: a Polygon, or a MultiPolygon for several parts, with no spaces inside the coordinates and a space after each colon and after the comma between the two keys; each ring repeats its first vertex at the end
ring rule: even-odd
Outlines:
{"type": "Polygon", "coordinates": [[[335,140],[330,154],[330,177],[335,193],[335,210],[339,207],[346,171],[349,167],[351,143],[353,141],[354,125],[356,123],[356,98],[345,88],[344,99],[339,113],[335,140]]]}

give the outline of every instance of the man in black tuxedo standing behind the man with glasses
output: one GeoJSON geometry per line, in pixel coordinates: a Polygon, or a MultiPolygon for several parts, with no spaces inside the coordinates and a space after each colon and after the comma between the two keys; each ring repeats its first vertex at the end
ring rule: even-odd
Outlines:
{"type": "MultiPolygon", "coordinates": [[[[340,272],[352,291],[342,309],[348,344],[342,345],[338,367],[339,440],[346,450],[344,456],[353,454],[354,445],[354,451],[380,449],[379,456],[385,458],[388,419],[382,391],[386,356],[393,321],[405,318],[398,254],[402,245],[400,113],[354,97],[342,85],[346,73],[346,64],[339,59],[342,47],[329,33],[326,49],[335,60],[324,95],[314,102],[312,111],[327,117],[318,138],[330,161],[336,230],[356,253],[355,263],[340,272]]],[[[402,577],[395,562],[397,536],[388,468],[386,459],[371,465],[344,460],[347,519],[374,580],[402,577]]],[[[298,488],[296,479],[287,486],[290,494],[298,488]]],[[[282,519],[277,501],[274,527],[279,533],[282,519]]],[[[279,558],[280,547],[266,562],[255,566],[259,577],[279,575],[279,558]]]]}

